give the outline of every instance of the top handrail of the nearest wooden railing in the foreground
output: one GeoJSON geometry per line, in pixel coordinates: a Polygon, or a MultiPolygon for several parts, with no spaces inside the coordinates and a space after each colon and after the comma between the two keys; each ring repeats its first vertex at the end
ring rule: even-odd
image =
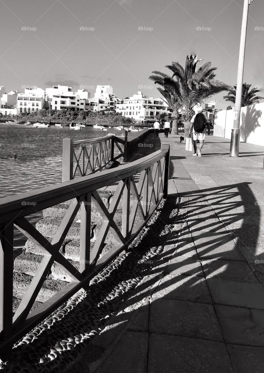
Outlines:
{"type": "Polygon", "coordinates": [[[140,160],[124,164],[114,170],[105,170],[82,178],[0,198],[0,223],[27,216],[84,193],[114,184],[150,167],[168,152],[169,145],[165,150],[157,150],[140,160]]]}

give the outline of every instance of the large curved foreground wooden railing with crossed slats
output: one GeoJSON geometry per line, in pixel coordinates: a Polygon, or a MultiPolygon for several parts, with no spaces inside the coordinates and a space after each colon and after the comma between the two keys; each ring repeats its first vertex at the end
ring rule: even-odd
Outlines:
{"type": "Polygon", "coordinates": [[[8,356],[12,345],[41,323],[77,291],[114,260],[135,239],[148,222],[162,198],[167,197],[169,145],[161,150],[113,170],[105,170],[82,178],[47,186],[0,199],[0,358],[8,356]],[[97,189],[116,184],[109,208],[97,189]],[[70,205],[51,242],[26,218],[36,211],[70,200],[70,205]],[[91,204],[102,217],[100,231],[90,250],[91,204]],[[80,207],[81,206],[81,207],[80,207]],[[119,206],[119,207],[118,207],[119,206]],[[122,209],[122,222],[115,222],[117,207],[122,209]],[[81,208],[79,270],[68,261],[60,248],[81,208]],[[12,316],[13,295],[13,229],[43,251],[43,259],[12,316]],[[116,244],[102,255],[108,232],[116,244]],[[100,257],[101,255],[101,257],[100,257]],[[100,258],[99,258],[100,257],[100,258]],[[51,270],[57,264],[72,279],[50,299],[31,311],[31,307],[51,270]],[[31,311],[31,312],[30,312],[31,311]]]}

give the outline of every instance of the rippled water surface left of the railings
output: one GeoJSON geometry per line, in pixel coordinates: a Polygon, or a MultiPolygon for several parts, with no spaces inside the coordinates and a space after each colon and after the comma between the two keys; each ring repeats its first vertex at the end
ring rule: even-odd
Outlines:
{"type": "MultiPolygon", "coordinates": [[[[84,140],[110,132],[113,130],[102,134],[92,127],[73,131],[69,127],[34,128],[0,123],[0,198],[61,182],[63,138],[84,140]]],[[[29,220],[35,224],[41,217],[41,212],[35,213],[29,220]]],[[[25,241],[25,236],[15,229],[14,246],[22,246],[25,241]]]]}

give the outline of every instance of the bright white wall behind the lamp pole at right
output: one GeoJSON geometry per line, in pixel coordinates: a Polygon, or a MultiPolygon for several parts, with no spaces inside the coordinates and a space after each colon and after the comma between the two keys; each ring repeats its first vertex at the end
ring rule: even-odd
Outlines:
{"type": "MultiPolygon", "coordinates": [[[[216,113],[214,136],[231,138],[234,111],[223,110],[216,113]]],[[[263,145],[264,139],[264,103],[245,106],[240,116],[240,141],[263,145]]]]}

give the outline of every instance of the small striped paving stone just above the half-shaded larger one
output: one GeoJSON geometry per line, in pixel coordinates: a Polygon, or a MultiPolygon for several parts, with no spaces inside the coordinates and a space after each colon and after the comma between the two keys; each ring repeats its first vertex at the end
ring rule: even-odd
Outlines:
{"type": "Polygon", "coordinates": [[[173,257],[164,270],[164,273],[204,277],[200,261],[186,256],[173,257]]]}

